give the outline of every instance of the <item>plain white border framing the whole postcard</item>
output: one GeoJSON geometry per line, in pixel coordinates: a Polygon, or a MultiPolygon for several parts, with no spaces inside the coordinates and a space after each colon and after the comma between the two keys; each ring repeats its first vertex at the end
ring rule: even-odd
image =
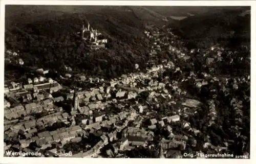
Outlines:
{"type": "MultiPolygon", "coordinates": [[[[11,0],[1,0],[1,8],[0,8],[0,84],[1,84],[1,94],[0,94],[0,104],[4,106],[4,29],[5,29],[5,5],[110,5],[110,6],[251,6],[251,84],[256,84],[255,73],[253,70],[255,69],[256,57],[255,57],[255,13],[256,1],[11,1],[11,0]]],[[[251,85],[251,102],[255,102],[255,86],[251,85]]],[[[155,162],[203,162],[207,163],[252,163],[255,157],[255,136],[256,136],[256,128],[255,124],[253,124],[256,111],[253,110],[255,105],[251,103],[251,142],[250,142],[250,159],[247,160],[236,160],[236,159],[108,159],[108,158],[13,158],[13,157],[3,157],[4,152],[4,137],[0,135],[0,163],[52,163],[52,162],[61,162],[61,163],[101,163],[101,162],[111,162],[111,163],[133,163],[133,162],[145,162],[145,163],[155,163],[155,162]],[[53,160],[54,159],[54,160],[53,160]],[[172,161],[170,161],[172,160],[172,161]],[[189,160],[189,161],[188,161],[189,160]]],[[[0,109],[0,134],[4,134],[4,110],[3,107],[0,109]]],[[[255,161],[253,162],[255,163],[255,161]]]]}

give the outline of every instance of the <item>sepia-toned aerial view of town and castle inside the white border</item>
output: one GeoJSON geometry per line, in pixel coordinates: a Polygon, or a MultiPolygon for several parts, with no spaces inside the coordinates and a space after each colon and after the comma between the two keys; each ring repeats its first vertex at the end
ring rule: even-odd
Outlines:
{"type": "Polygon", "coordinates": [[[250,6],[6,5],[4,157],[249,159],[250,22],[250,6]]]}

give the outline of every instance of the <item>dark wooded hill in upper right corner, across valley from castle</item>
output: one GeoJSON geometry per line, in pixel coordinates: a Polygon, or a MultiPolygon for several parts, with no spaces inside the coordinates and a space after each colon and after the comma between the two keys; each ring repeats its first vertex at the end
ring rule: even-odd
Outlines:
{"type": "MultiPolygon", "coordinates": [[[[250,44],[250,14],[243,14],[249,7],[219,9],[190,16],[170,24],[176,33],[183,36],[191,48],[207,48],[221,43],[230,48],[250,44]]],[[[248,13],[248,12],[247,12],[248,13]]]]}

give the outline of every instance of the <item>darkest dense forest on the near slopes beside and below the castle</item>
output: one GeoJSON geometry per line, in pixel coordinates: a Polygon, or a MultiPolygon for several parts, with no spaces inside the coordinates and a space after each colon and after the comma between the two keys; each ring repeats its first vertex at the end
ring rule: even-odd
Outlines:
{"type": "MultiPolygon", "coordinates": [[[[115,20],[106,18],[108,26],[105,27],[108,29],[104,31],[109,33],[105,34],[109,40],[107,49],[92,51],[86,47],[88,43],[76,35],[81,22],[86,20],[80,19],[77,14],[67,14],[55,20],[12,27],[6,30],[6,48],[18,50],[28,66],[37,65],[58,72],[64,71],[67,65],[73,71],[112,77],[133,70],[135,63],[140,63],[143,68],[147,61],[148,44],[136,34],[136,28],[134,31],[129,29],[135,25],[126,26],[126,30],[118,29],[115,20]]],[[[132,24],[128,19],[125,23],[132,24]]]]}

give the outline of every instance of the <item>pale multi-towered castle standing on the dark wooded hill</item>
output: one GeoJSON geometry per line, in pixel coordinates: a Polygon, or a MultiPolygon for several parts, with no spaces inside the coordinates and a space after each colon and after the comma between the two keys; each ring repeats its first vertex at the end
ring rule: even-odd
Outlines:
{"type": "Polygon", "coordinates": [[[89,22],[87,27],[82,25],[81,38],[90,42],[89,46],[91,49],[105,48],[105,44],[108,42],[97,30],[94,30],[92,27],[90,29],[89,22]]]}

